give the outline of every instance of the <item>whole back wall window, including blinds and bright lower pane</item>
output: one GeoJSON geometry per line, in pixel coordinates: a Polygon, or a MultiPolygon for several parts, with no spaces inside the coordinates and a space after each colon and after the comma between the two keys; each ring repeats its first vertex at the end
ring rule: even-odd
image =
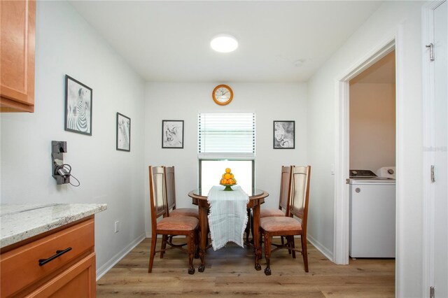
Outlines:
{"type": "Polygon", "coordinates": [[[254,187],[255,113],[200,113],[197,148],[200,187],[218,185],[225,168],[232,169],[238,185],[254,187]]]}

